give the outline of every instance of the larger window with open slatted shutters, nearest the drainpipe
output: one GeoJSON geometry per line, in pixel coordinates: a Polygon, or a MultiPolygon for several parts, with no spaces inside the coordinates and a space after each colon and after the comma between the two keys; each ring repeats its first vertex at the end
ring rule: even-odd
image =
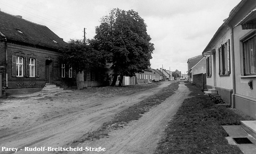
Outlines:
{"type": "Polygon", "coordinates": [[[230,45],[229,40],[219,48],[219,75],[230,73],[230,45]]]}

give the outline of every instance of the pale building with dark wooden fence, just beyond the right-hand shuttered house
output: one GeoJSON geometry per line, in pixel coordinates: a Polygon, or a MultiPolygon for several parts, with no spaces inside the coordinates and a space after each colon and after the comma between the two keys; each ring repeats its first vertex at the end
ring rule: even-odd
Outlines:
{"type": "Polygon", "coordinates": [[[206,89],[206,62],[202,55],[188,59],[188,81],[206,89]]]}

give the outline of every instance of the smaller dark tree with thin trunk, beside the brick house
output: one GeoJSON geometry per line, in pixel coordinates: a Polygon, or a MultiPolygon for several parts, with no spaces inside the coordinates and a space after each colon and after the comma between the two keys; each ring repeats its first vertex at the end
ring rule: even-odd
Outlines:
{"type": "Polygon", "coordinates": [[[91,45],[82,40],[70,40],[63,50],[62,62],[72,67],[76,72],[76,85],[78,85],[78,73],[90,68],[99,68],[105,63],[104,52],[95,50],[91,45]]]}

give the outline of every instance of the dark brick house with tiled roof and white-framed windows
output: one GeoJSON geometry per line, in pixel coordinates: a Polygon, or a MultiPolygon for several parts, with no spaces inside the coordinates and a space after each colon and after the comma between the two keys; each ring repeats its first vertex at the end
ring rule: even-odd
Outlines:
{"type": "Polygon", "coordinates": [[[60,63],[66,42],[48,27],[0,11],[0,73],[6,95],[32,93],[46,83],[76,88],[72,67],[60,63]]]}

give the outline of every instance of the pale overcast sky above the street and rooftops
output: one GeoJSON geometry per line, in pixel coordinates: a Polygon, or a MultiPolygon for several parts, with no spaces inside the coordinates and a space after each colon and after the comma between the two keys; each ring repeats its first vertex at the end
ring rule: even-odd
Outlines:
{"type": "Polygon", "coordinates": [[[0,9],[45,25],[68,42],[92,39],[100,18],[113,9],[134,10],[155,44],[151,67],[188,71],[240,0],[0,0],[0,9]]]}

